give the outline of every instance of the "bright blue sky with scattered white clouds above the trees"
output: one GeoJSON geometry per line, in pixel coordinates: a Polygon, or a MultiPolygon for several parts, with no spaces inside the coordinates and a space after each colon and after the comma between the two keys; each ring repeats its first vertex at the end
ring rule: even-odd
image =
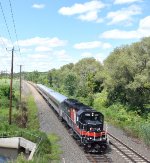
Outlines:
{"type": "Polygon", "coordinates": [[[0,72],[48,71],[150,36],[150,0],[0,0],[0,72]]]}

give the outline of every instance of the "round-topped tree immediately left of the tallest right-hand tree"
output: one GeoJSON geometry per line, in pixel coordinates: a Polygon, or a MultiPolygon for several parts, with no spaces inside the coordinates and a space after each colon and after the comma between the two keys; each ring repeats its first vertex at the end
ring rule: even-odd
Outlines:
{"type": "Polygon", "coordinates": [[[94,58],[84,58],[74,65],[73,71],[76,72],[80,79],[77,91],[78,96],[87,97],[89,94],[93,94],[96,90],[99,90],[98,87],[101,86],[98,78],[95,76],[101,73],[102,70],[101,63],[94,58]]]}

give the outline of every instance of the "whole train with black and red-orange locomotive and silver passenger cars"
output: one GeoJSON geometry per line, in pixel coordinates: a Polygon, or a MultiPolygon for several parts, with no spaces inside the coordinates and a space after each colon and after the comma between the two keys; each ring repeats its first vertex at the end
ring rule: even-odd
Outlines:
{"type": "Polygon", "coordinates": [[[72,135],[83,145],[86,152],[106,151],[108,139],[102,113],[42,84],[37,84],[37,90],[53,107],[59,119],[69,126],[72,135]]]}

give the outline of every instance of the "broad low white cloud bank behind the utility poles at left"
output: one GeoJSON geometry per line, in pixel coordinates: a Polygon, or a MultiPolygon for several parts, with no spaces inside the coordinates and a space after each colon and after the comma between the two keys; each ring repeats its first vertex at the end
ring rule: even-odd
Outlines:
{"type": "MultiPolygon", "coordinates": [[[[6,70],[11,67],[11,52],[7,52],[3,48],[3,45],[8,47],[9,40],[6,38],[0,38],[0,69],[6,70]],[[3,40],[3,41],[2,41],[3,40]]],[[[41,38],[34,37],[25,40],[19,40],[21,55],[18,51],[15,51],[14,55],[14,72],[19,71],[19,66],[24,65],[23,71],[47,71],[51,68],[58,68],[60,62],[70,62],[71,57],[64,50],[59,50],[67,44],[66,40],[61,40],[57,37],[53,38],[41,38]],[[56,48],[56,49],[55,49],[56,48]],[[58,48],[58,49],[57,49],[58,48]]],[[[17,42],[14,43],[15,49],[17,49],[17,42]]],[[[62,64],[62,63],[61,63],[62,64]]]]}

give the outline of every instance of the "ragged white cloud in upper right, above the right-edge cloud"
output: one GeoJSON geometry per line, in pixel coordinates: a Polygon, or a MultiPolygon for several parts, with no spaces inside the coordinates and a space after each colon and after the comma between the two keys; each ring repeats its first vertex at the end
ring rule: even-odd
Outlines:
{"type": "Polygon", "coordinates": [[[109,25],[124,23],[124,25],[130,25],[133,21],[132,16],[141,14],[141,8],[137,5],[129,6],[128,8],[122,8],[121,10],[109,12],[107,19],[111,19],[109,25]]]}

